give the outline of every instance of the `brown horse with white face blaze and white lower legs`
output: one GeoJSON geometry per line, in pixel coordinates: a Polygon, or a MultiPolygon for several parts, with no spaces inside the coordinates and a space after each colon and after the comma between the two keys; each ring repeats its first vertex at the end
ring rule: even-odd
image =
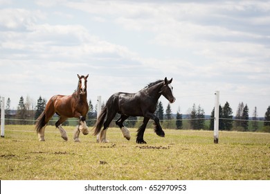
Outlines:
{"type": "Polygon", "coordinates": [[[44,112],[42,112],[39,118],[37,118],[35,128],[37,130],[37,134],[39,135],[39,141],[45,141],[45,127],[55,113],[60,116],[59,120],[55,123],[55,126],[58,128],[58,130],[60,130],[61,136],[65,141],[68,140],[68,137],[66,135],[66,131],[62,127],[62,123],[64,123],[67,118],[75,117],[80,119],[80,123],[78,127],[76,127],[73,135],[74,141],[80,141],[80,132],[82,132],[84,135],[89,133],[87,124],[85,122],[85,117],[89,109],[87,103],[87,78],[89,75],[77,76],[79,78],[79,82],[74,93],[71,94],[71,96],[53,96],[50,100],[48,100],[44,112]]]}

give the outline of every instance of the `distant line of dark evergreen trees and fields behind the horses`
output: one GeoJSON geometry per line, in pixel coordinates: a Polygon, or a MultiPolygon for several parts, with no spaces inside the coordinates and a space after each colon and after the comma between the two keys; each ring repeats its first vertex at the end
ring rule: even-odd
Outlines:
{"type": "MultiPolygon", "coordinates": [[[[1,102],[0,102],[1,103],[1,102]]],[[[46,107],[46,100],[39,96],[36,105],[34,105],[34,100],[30,97],[21,96],[19,103],[17,105],[17,110],[10,109],[10,98],[6,101],[6,125],[9,124],[20,124],[20,125],[33,125],[35,120],[44,111],[46,107]]],[[[102,107],[105,103],[102,103],[102,107]]],[[[1,107],[1,106],[0,106],[1,107]]],[[[168,103],[165,112],[163,104],[159,101],[156,104],[156,116],[161,121],[161,125],[165,129],[192,129],[192,130],[213,130],[214,129],[214,115],[215,108],[211,112],[210,116],[206,116],[204,108],[201,105],[192,105],[189,113],[184,115],[181,114],[180,108],[177,110],[176,114],[172,114],[172,109],[170,103],[168,103]]],[[[93,126],[96,123],[97,116],[97,105],[94,107],[91,100],[89,100],[89,112],[87,114],[87,125],[93,126]]],[[[116,114],[116,118],[120,115],[116,114]]],[[[252,117],[249,116],[249,107],[244,105],[244,103],[239,103],[237,107],[237,112],[233,116],[233,109],[228,102],[224,106],[219,105],[219,130],[237,130],[237,131],[262,131],[270,132],[270,106],[265,112],[264,119],[262,122],[258,122],[257,107],[254,108],[252,117]]],[[[57,120],[57,115],[53,117],[53,120],[57,120]]],[[[138,121],[140,118],[129,117],[126,121],[127,127],[138,127],[141,123],[138,121]]],[[[54,125],[53,122],[49,123],[54,125]]],[[[67,120],[63,125],[75,125],[76,121],[71,119],[67,120]]],[[[114,122],[111,123],[111,127],[115,127],[114,122]]]]}

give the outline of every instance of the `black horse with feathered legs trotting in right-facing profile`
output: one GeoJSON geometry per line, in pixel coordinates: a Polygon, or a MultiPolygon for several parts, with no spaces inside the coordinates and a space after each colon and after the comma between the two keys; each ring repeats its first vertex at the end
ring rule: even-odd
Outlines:
{"type": "Polygon", "coordinates": [[[159,118],[154,115],[156,111],[156,103],[158,102],[161,95],[167,98],[170,103],[174,103],[175,98],[172,93],[172,79],[158,80],[152,82],[147,87],[141,89],[137,93],[129,94],[118,92],[113,94],[106,103],[106,106],[100,112],[98,116],[98,121],[95,125],[95,131],[93,135],[98,135],[98,142],[108,142],[106,139],[107,128],[109,123],[111,123],[116,113],[120,114],[120,118],[116,121],[123,132],[123,135],[127,140],[130,139],[129,130],[123,125],[123,122],[129,118],[129,116],[143,116],[143,125],[138,128],[136,143],[146,143],[143,140],[143,134],[145,132],[145,127],[150,120],[154,120],[154,132],[158,136],[165,136],[162,130],[161,124],[159,123],[159,118]],[[101,130],[105,117],[107,120],[104,123],[103,130],[101,130]]]}

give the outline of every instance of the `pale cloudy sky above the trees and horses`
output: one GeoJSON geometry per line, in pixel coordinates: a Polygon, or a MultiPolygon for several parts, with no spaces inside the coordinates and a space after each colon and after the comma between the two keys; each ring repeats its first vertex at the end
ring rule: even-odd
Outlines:
{"type": "MultiPolygon", "coordinates": [[[[107,100],[173,78],[172,111],[270,105],[270,1],[0,0],[0,96],[107,100]]],[[[161,97],[164,109],[168,101],[161,97]]]]}

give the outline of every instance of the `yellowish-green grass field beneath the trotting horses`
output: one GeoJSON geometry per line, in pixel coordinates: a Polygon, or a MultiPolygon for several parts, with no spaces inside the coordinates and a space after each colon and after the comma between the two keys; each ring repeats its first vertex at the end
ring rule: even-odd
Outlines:
{"type": "Polygon", "coordinates": [[[6,125],[0,140],[0,179],[270,179],[270,134],[165,130],[165,138],[145,132],[147,144],[109,128],[110,143],[65,127],[69,141],[53,126],[39,142],[33,125],[6,125]]]}

